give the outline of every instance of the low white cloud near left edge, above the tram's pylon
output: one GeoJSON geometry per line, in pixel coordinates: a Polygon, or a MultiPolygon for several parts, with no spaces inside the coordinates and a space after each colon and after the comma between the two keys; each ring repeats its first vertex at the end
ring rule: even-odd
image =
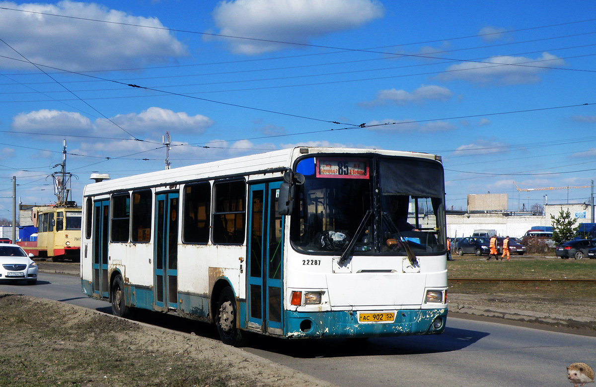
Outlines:
{"type": "Polygon", "coordinates": [[[11,128],[20,132],[77,134],[92,129],[89,118],[72,111],[42,109],[19,113],[11,128]]]}

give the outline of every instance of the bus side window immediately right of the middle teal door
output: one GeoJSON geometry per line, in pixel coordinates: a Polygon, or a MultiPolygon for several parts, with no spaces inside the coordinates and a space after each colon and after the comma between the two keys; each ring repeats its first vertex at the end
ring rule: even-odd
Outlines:
{"type": "Polygon", "coordinates": [[[184,188],[184,224],[182,242],[209,242],[211,217],[211,185],[209,182],[189,184],[184,188]]]}

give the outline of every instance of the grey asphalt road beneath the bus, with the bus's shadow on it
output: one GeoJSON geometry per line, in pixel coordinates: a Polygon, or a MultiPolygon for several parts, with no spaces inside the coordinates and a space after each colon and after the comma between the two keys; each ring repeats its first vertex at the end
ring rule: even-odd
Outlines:
{"type": "MultiPolygon", "coordinates": [[[[110,313],[104,301],[80,291],[79,278],[42,273],[38,285],[0,284],[17,292],[110,313]]],[[[159,318],[158,318],[159,317],[159,318]]],[[[163,319],[144,322],[210,338],[207,324],[163,319]]],[[[339,386],[566,386],[565,367],[582,361],[596,368],[596,338],[506,324],[448,318],[445,333],[359,340],[286,341],[255,336],[245,348],[259,356],[339,386]]]]}

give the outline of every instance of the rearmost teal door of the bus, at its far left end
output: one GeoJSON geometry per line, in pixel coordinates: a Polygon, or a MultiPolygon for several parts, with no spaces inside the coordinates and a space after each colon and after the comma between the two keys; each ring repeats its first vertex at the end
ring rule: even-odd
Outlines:
{"type": "Polygon", "coordinates": [[[110,295],[108,278],[108,242],[110,200],[95,202],[93,217],[93,292],[102,298],[110,295]]]}

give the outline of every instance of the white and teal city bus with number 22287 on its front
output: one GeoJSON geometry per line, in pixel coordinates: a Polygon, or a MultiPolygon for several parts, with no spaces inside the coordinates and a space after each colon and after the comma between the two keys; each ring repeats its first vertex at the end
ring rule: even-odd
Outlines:
{"type": "Polygon", "coordinates": [[[87,185],[82,291],[222,341],[442,333],[436,155],[299,147],[87,185]]]}

